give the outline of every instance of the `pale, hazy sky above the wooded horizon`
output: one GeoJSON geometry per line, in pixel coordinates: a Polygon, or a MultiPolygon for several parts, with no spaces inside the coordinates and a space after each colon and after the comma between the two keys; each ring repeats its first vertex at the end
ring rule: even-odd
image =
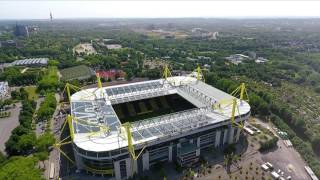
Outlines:
{"type": "Polygon", "coordinates": [[[0,1],[0,19],[320,17],[318,1],[0,1]]]}

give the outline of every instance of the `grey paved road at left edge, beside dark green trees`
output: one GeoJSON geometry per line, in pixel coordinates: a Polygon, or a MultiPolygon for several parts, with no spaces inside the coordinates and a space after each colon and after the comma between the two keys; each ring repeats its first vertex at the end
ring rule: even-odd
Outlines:
{"type": "Polygon", "coordinates": [[[11,136],[11,131],[19,125],[19,114],[21,103],[16,103],[16,107],[10,109],[11,116],[0,119],[0,151],[5,154],[5,143],[11,136]]]}

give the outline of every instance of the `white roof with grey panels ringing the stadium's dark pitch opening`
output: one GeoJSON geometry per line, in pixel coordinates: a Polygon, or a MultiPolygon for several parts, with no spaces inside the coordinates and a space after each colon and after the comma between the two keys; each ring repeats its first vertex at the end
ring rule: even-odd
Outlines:
{"type": "MultiPolygon", "coordinates": [[[[159,79],[92,88],[73,94],[74,143],[96,152],[126,147],[127,140],[120,132],[121,122],[112,105],[170,94],[179,94],[196,108],[131,123],[134,145],[165,140],[220,122],[230,124],[231,105],[219,110],[212,107],[221,100],[232,99],[231,95],[196,78],[178,76],[166,81],[159,79]]],[[[250,112],[245,101],[238,99],[237,106],[237,116],[250,112]]]]}

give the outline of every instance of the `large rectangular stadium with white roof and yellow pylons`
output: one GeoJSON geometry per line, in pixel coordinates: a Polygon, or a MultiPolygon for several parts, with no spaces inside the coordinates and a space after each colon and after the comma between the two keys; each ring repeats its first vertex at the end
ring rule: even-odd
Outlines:
{"type": "Polygon", "coordinates": [[[197,163],[201,150],[239,140],[250,116],[244,84],[236,98],[192,76],[69,92],[79,170],[127,179],[158,162],[197,163]]]}

